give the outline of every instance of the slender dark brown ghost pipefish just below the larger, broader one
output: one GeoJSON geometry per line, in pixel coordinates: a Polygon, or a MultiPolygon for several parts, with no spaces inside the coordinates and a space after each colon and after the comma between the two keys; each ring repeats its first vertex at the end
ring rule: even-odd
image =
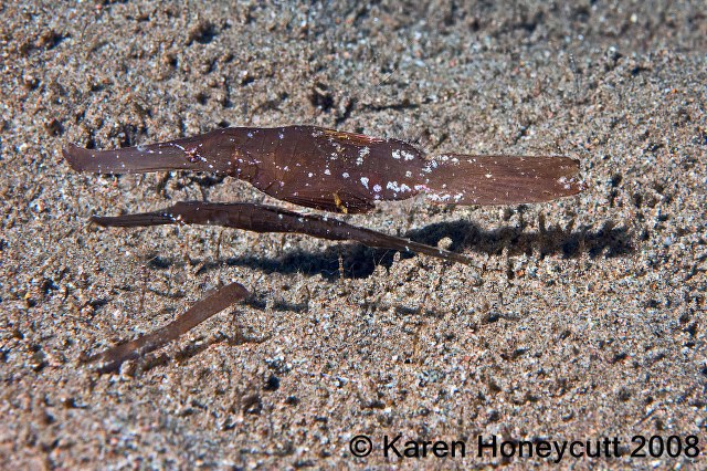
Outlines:
{"type": "Polygon", "coordinates": [[[255,232],[302,233],[327,240],[354,240],[379,249],[418,252],[452,262],[472,263],[468,258],[460,253],[371,229],[359,228],[338,219],[316,214],[299,214],[274,206],[246,202],[182,201],[161,211],[113,217],[94,216],[91,220],[101,226],[114,227],[187,223],[224,226],[255,232]]]}

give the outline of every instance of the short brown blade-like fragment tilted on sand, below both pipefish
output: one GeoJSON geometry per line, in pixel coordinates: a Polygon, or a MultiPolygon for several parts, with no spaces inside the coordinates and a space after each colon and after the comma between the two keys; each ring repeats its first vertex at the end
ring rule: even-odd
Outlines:
{"type": "Polygon", "coordinates": [[[126,342],[113,348],[89,357],[87,362],[96,363],[99,373],[114,371],[123,362],[141,357],[157,348],[172,342],[179,336],[194,328],[209,317],[247,296],[247,290],[240,283],[231,283],[211,296],[199,301],[186,313],[157,331],[126,342]]]}

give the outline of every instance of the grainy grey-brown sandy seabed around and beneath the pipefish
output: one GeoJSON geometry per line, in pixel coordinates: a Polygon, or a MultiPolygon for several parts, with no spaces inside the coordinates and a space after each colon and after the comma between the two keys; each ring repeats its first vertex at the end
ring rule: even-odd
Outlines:
{"type": "Polygon", "coordinates": [[[0,6],[0,468],[704,469],[706,51],[700,1],[0,6]],[[61,154],[287,124],[568,155],[588,189],[347,218],[467,266],[97,228],[273,201],[61,154]],[[119,374],[81,363],[236,280],[245,303],[119,374]]]}

